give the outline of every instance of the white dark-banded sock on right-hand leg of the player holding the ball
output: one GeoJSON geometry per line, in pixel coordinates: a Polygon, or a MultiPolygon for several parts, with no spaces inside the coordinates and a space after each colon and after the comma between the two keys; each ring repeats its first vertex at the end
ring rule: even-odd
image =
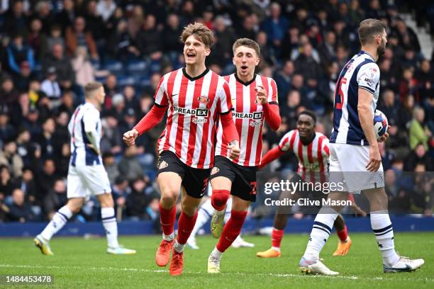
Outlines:
{"type": "Polygon", "coordinates": [[[394,229],[391,225],[389,212],[387,210],[371,212],[371,227],[382,252],[383,263],[386,266],[395,265],[399,261],[399,256],[395,251],[394,229]]]}

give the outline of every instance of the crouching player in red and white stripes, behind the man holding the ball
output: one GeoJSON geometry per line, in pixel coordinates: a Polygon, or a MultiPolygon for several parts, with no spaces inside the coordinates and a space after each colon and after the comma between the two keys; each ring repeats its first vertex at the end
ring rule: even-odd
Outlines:
{"type": "MultiPolygon", "coordinates": [[[[302,111],[297,118],[296,130],[287,132],[279,145],[269,150],[262,158],[260,169],[267,166],[274,159],[282,156],[285,152],[293,152],[299,159],[299,169],[297,170],[294,181],[302,179],[302,181],[315,181],[315,177],[320,177],[327,170],[328,164],[328,138],[321,132],[315,131],[316,115],[311,111],[302,111]],[[301,176],[299,176],[301,175],[301,176]]],[[[286,198],[294,192],[282,192],[280,198],[286,198]]],[[[352,196],[352,195],[350,195],[352,196]]],[[[352,202],[355,212],[361,215],[366,215],[355,202],[352,202]]],[[[257,252],[256,256],[262,258],[273,258],[281,255],[280,243],[284,235],[284,228],[288,220],[286,212],[280,212],[279,209],[274,216],[274,224],[272,231],[272,247],[267,251],[257,252]]],[[[344,256],[348,253],[351,246],[351,239],[347,234],[347,226],[343,217],[339,215],[334,223],[336,233],[340,241],[338,249],[335,250],[333,256],[344,256]]]]}

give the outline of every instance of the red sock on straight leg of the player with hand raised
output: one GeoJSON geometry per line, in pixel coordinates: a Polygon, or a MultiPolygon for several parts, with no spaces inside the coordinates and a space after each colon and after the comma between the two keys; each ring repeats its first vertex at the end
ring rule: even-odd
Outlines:
{"type": "Polygon", "coordinates": [[[223,227],[223,232],[221,233],[220,239],[218,240],[216,248],[218,251],[224,252],[229,248],[230,244],[235,241],[241,232],[243,227],[245,216],[247,212],[230,211],[230,218],[223,227]]]}

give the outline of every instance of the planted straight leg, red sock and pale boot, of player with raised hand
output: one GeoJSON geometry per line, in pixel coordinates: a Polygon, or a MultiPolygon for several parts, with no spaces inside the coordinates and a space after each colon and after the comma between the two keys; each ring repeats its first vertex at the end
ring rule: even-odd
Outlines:
{"type": "Polygon", "coordinates": [[[216,247],[208,257],[208,273],[220,273],[220,261],[223,253],[228,249],[241,232],[247,210],[250,206],[250,200],[243,200],[238,196],[232,196],[232,210],[230,218],[223,227],[220,239],[216,247]]]}

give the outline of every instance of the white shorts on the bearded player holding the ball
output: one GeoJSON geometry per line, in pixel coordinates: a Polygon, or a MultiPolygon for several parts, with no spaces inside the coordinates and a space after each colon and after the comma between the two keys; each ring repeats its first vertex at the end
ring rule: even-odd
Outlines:
{"type": "Polygon", "coordinates": [[[370,188],[384,187],[383,164],[378,171],[367,171],[369,147],[362,145],[329,144],[330,183],[340,183],[339,191],[360,193],[370,188]]]}

